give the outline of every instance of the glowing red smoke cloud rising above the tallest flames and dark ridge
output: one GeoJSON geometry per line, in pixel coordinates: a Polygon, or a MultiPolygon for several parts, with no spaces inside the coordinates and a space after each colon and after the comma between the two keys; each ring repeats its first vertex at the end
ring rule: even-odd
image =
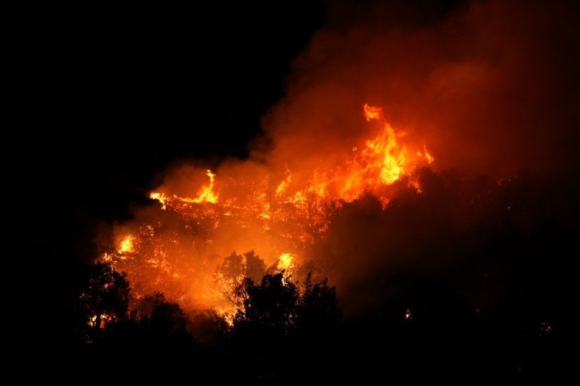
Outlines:
{"type": "Polygon", "coordinates": [[[333,162],[336,150],[364,136],[359,116],[369,103],[427,145],[439,170],[572,169],[574,2],[474,1],[431,19],[419,17],[421,2],[340,4],[295,59],[286,97],[263,121],[271,162],[333,162]]]}

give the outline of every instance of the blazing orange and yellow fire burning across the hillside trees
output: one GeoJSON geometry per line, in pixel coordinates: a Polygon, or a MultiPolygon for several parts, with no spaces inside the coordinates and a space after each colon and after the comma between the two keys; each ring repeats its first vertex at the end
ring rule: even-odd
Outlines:
{"type": "Polygon", "coordinates": [[[376,136],[352,144],[344,164],[308,171],[306,184],[294,183],[292,170],[274,181],[268,174],[222,176],[205,169],[199,174],[206,182],[191,196],[161,186],[150,194],[160,205],[117,229],[116,245],[102,260],[127,272],[137,297],[163,292],[184,308],[222,311],[235,307],[228,291],[243,277],[308,273],[300,272],[308,248],[324,238],[345,203],[370,193],[385,207],[388,186],[434,161],[425,147],[400,143],[380,108],[365,104],[364,117],[380,128],[376,136]]]}

